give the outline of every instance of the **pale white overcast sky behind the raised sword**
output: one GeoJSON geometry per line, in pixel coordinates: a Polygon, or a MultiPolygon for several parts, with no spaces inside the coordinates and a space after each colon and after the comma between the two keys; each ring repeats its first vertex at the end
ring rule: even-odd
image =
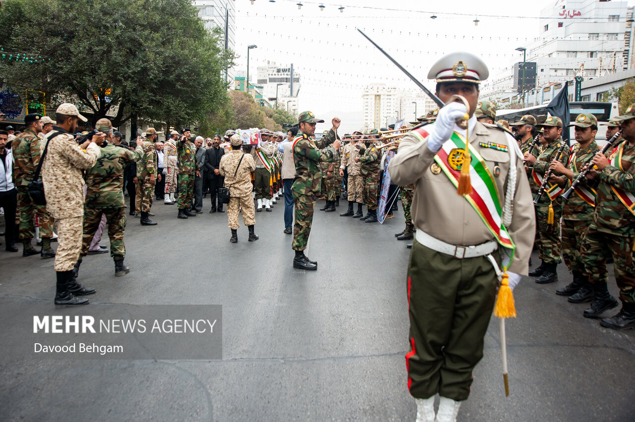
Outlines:
{"type": "MultiPolygon", "coordinates": [[[[302,84],[298,96],[300,110],[311,110],[327,122],[318,125],[318,132],[330,127],[333,116],[324,113],[358,112],[358,117],[342,121],[342,129],[349,132],[361,127],[361,92],[368,84],[385,83],[418,90],[356,28],[432,88],[434,83],[427,80],[429,67],[452,51],[481,56],[490,68],[490,75],[522,61],[522,54],[515,49],[526,46],[540,34],[539,21],[532,17],[556,3],[556,0],[344,0],[342,4],[332,1],[299,0],[304,4],[302,10],[296,6],[298,0],[275,3],[256,0],[253,5],[248,0],[236,1],[237,69],[246,70],[246,49],[250,44],[258,46],[250,51],[252,81],[256,79],[256,68],[267,65],[267,61],[284,67],[293,63],[302,84]],[[320,11],[319,4],[326,8],[320,11]],[[535,8],[528,11],[530,4],[535,8]],[[345,7],[343,13],[338,10],[340,5],[345,7]],[[438,17],[432,20],[431,15],[438,17]],[[480,21],[478,26],[472,22],[475,18],[480,21]]],[[[629,5],[632,3],[635,0],[629,0],[629,5]]]]}

